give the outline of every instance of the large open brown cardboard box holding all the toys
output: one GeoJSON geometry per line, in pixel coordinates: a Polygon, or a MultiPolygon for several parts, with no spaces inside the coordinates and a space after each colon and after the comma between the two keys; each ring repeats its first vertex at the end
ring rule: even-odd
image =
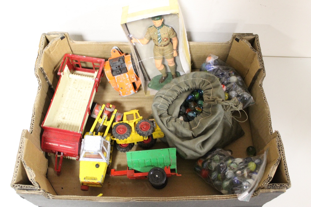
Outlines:
{"type": "MultiPolygon", "coordinates": [[[[108,59],[114,46],[130,52],[128,43],[75,42],[67,33],[42,34],[35,63],[39,88],[31,127],[30,131],[22,131],[11,184],[16,193],[38,206],[262,206],[290,187],[281,137],[271,128],[269,107],[262,89],[265,70],[258,35],[254,34],[234,34],[226,43],[189,43],[194,71],[213,53],[239,72],[256,101],[245,110],[248,120],[241,123],[244,136],[226,147],[234,152],[234,157],[246,157],[246,148],[250,145],[255,146],[258,154],[269,148],[263,178],[249,202],[239,201],[236,195],[222,195],[194,172],[195,160],[180,157],[177,157],[177,172],[182,176],[170,177],[162,190],[152,188],[146,180],[106,176],[102,188],[81,191],[79,162],[68,159],[63,160],[62,173],[57,176],[55,158],[45,155],[40,148],[43,133],[40,125],[58,82],[57,71],[63,55],[73,53],[108,59]],[[103,195],[97,197],[100,193],[103,195]]],[[[143,90],[120,97],[104,77],[94,98],[100,104],[114,104],[122,112],[138,109],[143,117],[152,113],[152,100],[153,97],[146,97],[143,90]]],[[[242,119],[245,118],[244,115],[242,119]]],[[[89,119],[86,128],[91,127],[93,121],[89,119]]],[[[158,141],[155,148],[161,147],[166,146],[158,141]]],[[[132,150],[140,148],[134,146],[132,150]]],[[[114,150],[112,159],[112,168],[126,169],[125,153],[114,150]]]]}

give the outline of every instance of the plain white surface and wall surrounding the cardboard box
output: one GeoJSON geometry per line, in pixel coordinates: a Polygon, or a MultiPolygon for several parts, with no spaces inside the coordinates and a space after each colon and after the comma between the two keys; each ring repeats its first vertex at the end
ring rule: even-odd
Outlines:
{"type": "MultiPolygon", "coordinates": [[[[30,127],[38,87],[34,66],[41,34],[63,31],[74,40],[125,42],[119,23],[122,6],[129,2],[137,1],[2,3],[0,84],[5,123],[0,192],[10,204],[34,206],[19,197],[10,183],[21,131],[30,127]]],[[[191,41],[225,42],[232,33],[259,35],[267,73],[263,88],[272,128],[281,133],[292,182],[290,189],[264,206],[309,206],[310,1],[180,0],[179,4],[191,41]]]]}

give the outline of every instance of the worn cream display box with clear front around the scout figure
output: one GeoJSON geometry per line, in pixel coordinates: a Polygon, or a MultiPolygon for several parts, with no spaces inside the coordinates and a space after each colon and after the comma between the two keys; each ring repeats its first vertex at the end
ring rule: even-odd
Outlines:
{"type": "MultiPolygon", "coordinates": [[[[143,39],[147,29],[153,26],[151,17],[159,15],[163,17],[163,24],[172,27],[177,35],[178,56],[174,57],[176,71],[181,75],[190,73],[191,64],[187,32],[177,0],[164,0],[156,4],[145,3],[123,7],[121,26],[128,41],[130,42],[132,37],[143,39]]],[[[165,38],[162,38],[162,40],[164,44],[165,38]]],[[[170,40],[170,42],[172,42],[172,40],[170,40]]],[[[145,45],[139,43],[130,44],[136,67],[139,69],[142,87],[146,95],[156,94],[157,90],[152,89],[153,87],[148,87],[148,84],[155,76],[161,75],[155,66],[153,52],[155,44],[156,43],[153,43],[152,39],[145,45]]],[[[166,67],[166,72],[170,72],[165,57],[162,63],[166,67]]]]}

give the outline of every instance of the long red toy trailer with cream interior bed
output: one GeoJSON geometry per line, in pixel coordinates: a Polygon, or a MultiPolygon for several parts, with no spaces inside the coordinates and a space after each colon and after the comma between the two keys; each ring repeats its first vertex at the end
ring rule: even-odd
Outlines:
{"type": "Polygon", "coordinates": [[[63,157],[78,160],[82,133],[102,77],[104,59],[65,54],[53,99],[41,127],[41,149],[55,154],[60,174],[63,157]],[[59,157],[59,161],[58,161],[59,157]]]}

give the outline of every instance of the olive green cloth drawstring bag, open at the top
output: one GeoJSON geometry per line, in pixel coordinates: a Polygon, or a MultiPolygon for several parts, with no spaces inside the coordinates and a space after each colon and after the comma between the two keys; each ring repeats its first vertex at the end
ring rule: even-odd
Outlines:
{"type": "Polygon", "coordinates": [[[184,159],[198,159],[213,147],[224,147],[244,132],[232,117],[233,110],[242,109],[234,98],[225,100],[225,93],[215,75],[192,72],[173,79],[161,88],[152,103],[156,123],[164,132],[162,141],[176,147],[184,159]],[[192,121],[178,118],[179,108],[196,89],[203,90],[202,113],[192,121]]]}

